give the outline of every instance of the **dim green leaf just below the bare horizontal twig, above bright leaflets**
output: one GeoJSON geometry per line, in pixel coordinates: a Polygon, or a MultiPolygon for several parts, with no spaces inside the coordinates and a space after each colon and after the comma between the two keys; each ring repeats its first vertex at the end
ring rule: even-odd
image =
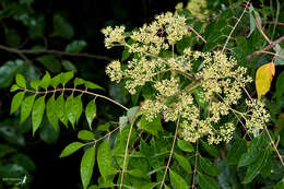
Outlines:
{"type": "Polygon", "coordinates": [[[44,55],[36,58],[48,71],[58,73],[61,71],[60,61],[52,55],[44,55]]]}

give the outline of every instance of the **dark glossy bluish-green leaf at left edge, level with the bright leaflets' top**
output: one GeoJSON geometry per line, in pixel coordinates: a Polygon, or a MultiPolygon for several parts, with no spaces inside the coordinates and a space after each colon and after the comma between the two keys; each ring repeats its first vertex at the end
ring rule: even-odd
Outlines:
{"type": "Polygon", "coordinates": [[[24,69],[23,60],[8,61],[0,67],[0,88],[12,84],[14,75],[24,69]]]}

